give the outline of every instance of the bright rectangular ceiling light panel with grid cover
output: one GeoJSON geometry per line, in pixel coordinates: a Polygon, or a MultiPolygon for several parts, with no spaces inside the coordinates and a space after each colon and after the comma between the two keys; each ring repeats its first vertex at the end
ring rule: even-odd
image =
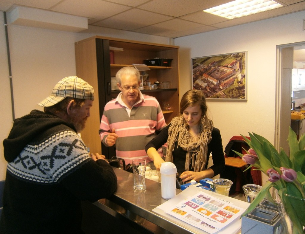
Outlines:
{"type": "Polygon", "coordinates": [[[273,0],[236,0],[203,10],[203,12],[232,20],[279,7],[282,5],[273,0]]]}

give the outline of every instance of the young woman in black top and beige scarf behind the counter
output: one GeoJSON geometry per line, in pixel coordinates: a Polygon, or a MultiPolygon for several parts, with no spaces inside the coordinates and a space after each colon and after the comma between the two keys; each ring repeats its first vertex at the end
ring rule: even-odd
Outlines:
{"type": "Polygon", "coordinates": [[[179,117],[163,128],[145,147],[159,170],[163,162],[175,164],[183,182],[211,178],[224,170],[224,152],[220,131],[207,115],[206,99],[199,90],[187,91],[180,102],[179,117]],[[157,153],[167,142],[165,161],[157,153]],[[213,165],[207,168],[210,154],[213,165]]]}

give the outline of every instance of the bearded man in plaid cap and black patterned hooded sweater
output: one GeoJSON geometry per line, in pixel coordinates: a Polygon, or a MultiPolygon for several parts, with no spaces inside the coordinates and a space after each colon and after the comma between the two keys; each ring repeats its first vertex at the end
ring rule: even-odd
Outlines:
{"type": "Polygon", "coordinates": [[[109,197],[117,177],[103,155],[89,155],[78,133],[94,100],[91,85],[66,77],[14,121],[3,141],[8,161],[0,233],[84,233],[81,201],[109,197]]]}

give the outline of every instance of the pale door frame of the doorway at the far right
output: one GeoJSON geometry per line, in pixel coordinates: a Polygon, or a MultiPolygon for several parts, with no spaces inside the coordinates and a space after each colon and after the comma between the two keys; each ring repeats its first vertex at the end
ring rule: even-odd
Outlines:
{"type": "Polygon", "coordinates": [[[305,41],[276,47],[276,100],[275,100],[275,139],[274,147],[280,147],[289,155],[287,142],[291,123],[291,92],[294,50],[305,47],[305,41]]]}

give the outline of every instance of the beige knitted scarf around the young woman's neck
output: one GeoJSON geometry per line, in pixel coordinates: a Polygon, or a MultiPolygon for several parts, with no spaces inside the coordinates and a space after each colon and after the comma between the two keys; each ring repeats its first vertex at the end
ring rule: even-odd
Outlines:
{"type": "Polygon", "coordinates": [[[178,140],[178,146],[187,151],[185,159],[185,170],[190,170],[190,165],[194,171],[203,171],[206,165],[208,144],[212,139],[213,121],[206,116],[201,118],[197,141],[192,141],[192,135],[188,131],[188,125],[184,117],[174,117],[168,129],[166,162],[173,162],[173,150],[175,142],[178,140]]]}

